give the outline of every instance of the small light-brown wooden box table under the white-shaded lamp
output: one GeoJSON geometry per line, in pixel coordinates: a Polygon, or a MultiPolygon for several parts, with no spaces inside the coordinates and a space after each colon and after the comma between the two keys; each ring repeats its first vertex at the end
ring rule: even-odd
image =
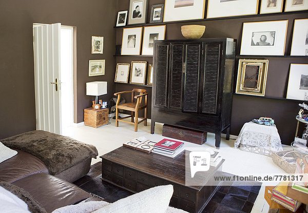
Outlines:
{"type": "Polygon", "coordinates": [[[108,124],[109,109],[93,109],[92,107],[84,110],[85,125],[98,128],[108,124]]]}

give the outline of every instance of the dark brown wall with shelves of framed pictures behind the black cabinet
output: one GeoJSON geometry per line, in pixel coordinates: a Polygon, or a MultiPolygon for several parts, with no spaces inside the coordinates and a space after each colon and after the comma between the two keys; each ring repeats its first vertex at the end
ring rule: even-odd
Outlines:
{"type": "Polygon", "coordinates": [[[153,41],[183,39],[181,26],[204,25],[202,38],[237,40],[231,134],[267,116],[282,143],[292,142],[298,103],[308,100],[308,0],[118,0],[115,16],[115,91],[151,94],[153,41]]]}

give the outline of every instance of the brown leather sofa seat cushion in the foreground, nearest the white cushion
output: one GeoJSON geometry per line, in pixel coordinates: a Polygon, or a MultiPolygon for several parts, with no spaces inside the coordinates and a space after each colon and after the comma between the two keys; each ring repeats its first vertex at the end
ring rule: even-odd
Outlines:
{"type": "Polygon", "coordinates": [[[36,173],[13,184],[28,191],[47,212],[91,197],[81,188],[45,173],[36,173]]]}

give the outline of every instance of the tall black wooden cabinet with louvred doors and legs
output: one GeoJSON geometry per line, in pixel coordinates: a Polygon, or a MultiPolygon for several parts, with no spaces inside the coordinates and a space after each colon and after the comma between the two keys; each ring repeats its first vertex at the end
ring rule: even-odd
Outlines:
{"type": "Polygon", "coordinates": [[[151,133],[155,122],[215,133],[232,110],[236,41],[232,38],[155,41],[151,133]]]}

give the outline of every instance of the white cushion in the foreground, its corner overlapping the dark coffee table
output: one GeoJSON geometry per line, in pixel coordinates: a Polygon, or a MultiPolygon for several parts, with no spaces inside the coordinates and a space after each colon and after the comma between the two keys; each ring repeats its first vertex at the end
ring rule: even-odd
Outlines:
{"type": "Polygon", "coordinates": [[[94,213],[165,213],[173,193],[173,186],[157,186],[115,201],[94,213]]]}

